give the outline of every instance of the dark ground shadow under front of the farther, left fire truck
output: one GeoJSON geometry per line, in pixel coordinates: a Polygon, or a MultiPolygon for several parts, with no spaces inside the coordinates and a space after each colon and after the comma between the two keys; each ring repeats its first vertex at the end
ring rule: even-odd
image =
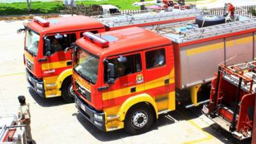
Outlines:
{"type": "Polygon", "coordinates": [[[52,97],[45,99],[43,97],[40,97],[40,95],[38,95],[31,87],[28,87],[28,91],[31,97],[33,97],[33,99],[36,101],[36,103],[42,107],[52,107],[68,104],[67,102],[65,102],[65,100],[62,99],[62,97],[52,97]]]}

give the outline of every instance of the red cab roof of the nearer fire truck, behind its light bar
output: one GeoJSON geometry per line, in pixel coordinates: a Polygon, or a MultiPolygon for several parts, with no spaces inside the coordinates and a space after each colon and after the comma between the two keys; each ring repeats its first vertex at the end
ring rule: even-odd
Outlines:
{"type": "Polygon", "coordinates": [[[127,28],[100,33],[98,36],[109,41],[106,48],[84,38],[77,40],[77,45],[95,55],[116,56],[129,52],[141,51],[153,47],[172,44],[168,38],[143,28],[127,28]]]}

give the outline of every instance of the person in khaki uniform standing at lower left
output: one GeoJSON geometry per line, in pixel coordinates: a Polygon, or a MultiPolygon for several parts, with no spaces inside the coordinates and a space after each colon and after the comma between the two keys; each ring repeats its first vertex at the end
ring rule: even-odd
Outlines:
{"type": "Polygon", "coordinates": [[[20,124],[24,124],[26,130],[26,138],[28,144],[33,144],[32,142],[32,135],[31,135],[31,127],[30,127],[30,111],[29,111],[29,103],[26,103],[26,99],[23,95],[18,97],[20,106],[19,106],[19,113],[18,116],[20,118],[20,124]]]}

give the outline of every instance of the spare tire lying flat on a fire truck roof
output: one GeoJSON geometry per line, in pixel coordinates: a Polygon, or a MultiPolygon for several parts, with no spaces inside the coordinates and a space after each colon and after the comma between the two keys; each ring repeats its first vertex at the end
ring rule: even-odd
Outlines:
{"type": "Polygon", "coordinates": [[[196,17],[196,24],[198,24],[199,28],[214,26],[217,24],[224,24],[226,22],[225,17],[220,15],[200,15],[196,17]],[[203,26],[204,23],[204,26],[203,26]]]}

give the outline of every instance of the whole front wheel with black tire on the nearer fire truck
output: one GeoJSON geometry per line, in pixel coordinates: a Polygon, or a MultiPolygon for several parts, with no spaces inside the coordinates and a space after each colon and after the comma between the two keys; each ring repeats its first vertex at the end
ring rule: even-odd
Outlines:
{"type": "Polygon", "coordinates": [[[134,106],[125,116],[124,129],[129,134],[141,134],[150,129],[153,121],[153,112],[149,106],[134,106]]]}

